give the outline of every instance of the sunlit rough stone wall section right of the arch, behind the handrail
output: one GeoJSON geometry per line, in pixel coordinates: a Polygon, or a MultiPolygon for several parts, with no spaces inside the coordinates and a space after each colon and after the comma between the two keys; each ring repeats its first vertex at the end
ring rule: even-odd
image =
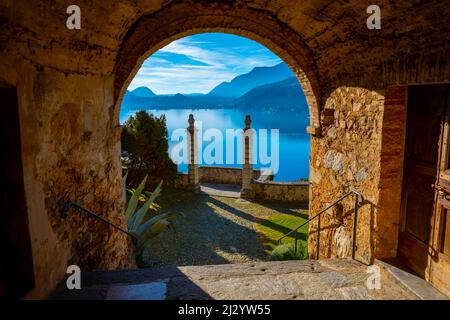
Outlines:
{"type": "MultiPolygon", "coordinates": [[[[382,92],[339,87],[325,100],[328,118],[323,119],[323,137],[312,137],[310,180],[313,183],[310,212],[334,202],[350,188],[361,192],[366,202],[358,217],[357,256],[373,257],[375,206],[378,203],[382,92]]],[[[321,221],[320,256],[349,256],[354,200],[346,199],[324,214],[321,221]],[[342,248],[348,248],[342,252],[342,248]]],[[[316,254],[316,224],[310,226],[309,252],[316,254]]]]}

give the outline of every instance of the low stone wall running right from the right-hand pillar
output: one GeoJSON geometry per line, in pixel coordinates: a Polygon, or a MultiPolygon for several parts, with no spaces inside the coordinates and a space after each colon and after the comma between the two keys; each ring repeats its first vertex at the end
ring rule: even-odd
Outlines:
{"type": "Polygon", "coordinates": [[[253,180],[252,192],[255,199],[306,202],[309,200],[309,182],[253,180]]]}

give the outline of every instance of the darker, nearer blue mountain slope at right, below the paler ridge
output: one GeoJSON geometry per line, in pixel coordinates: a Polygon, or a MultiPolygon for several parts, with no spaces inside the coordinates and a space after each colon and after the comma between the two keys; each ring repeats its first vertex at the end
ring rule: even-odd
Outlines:
{"type": "Polygon", "coordinates": [[[236,108],[245,109],[307,110],[305,95],[296,77],[256,87],[233,104],[236,108]]]}

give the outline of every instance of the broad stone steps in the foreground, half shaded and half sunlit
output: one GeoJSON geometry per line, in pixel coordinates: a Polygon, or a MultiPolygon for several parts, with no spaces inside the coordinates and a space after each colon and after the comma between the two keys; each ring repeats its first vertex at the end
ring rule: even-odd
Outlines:
{"type": "Polygon", "coordinates": [[[369,289],[366,282],[370,273],[367,270],[366,265],[343,258],[97,271],[82,275],[81,290],[67,290],[65,283],[61,283],[51,299],[445,298],[438,292],[435,296],[420,296],[392,276],[385,266],[379,268],[381,288],[369,289]]]}

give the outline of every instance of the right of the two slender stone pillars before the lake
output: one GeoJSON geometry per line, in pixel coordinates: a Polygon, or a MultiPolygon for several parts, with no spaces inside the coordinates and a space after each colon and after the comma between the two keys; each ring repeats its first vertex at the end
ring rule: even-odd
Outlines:
{"type": "Polygon", "coordinates": [[[253,180],[253,130],[250,128],[251,124],[252,120],[250,119],[250,116],[245,116],[245,128],[242,135],[242,147],[244,149],[242,152],[242,156],[244,158],[242,166],[242,198],[252,197],[251,183],[253,180]]]}

